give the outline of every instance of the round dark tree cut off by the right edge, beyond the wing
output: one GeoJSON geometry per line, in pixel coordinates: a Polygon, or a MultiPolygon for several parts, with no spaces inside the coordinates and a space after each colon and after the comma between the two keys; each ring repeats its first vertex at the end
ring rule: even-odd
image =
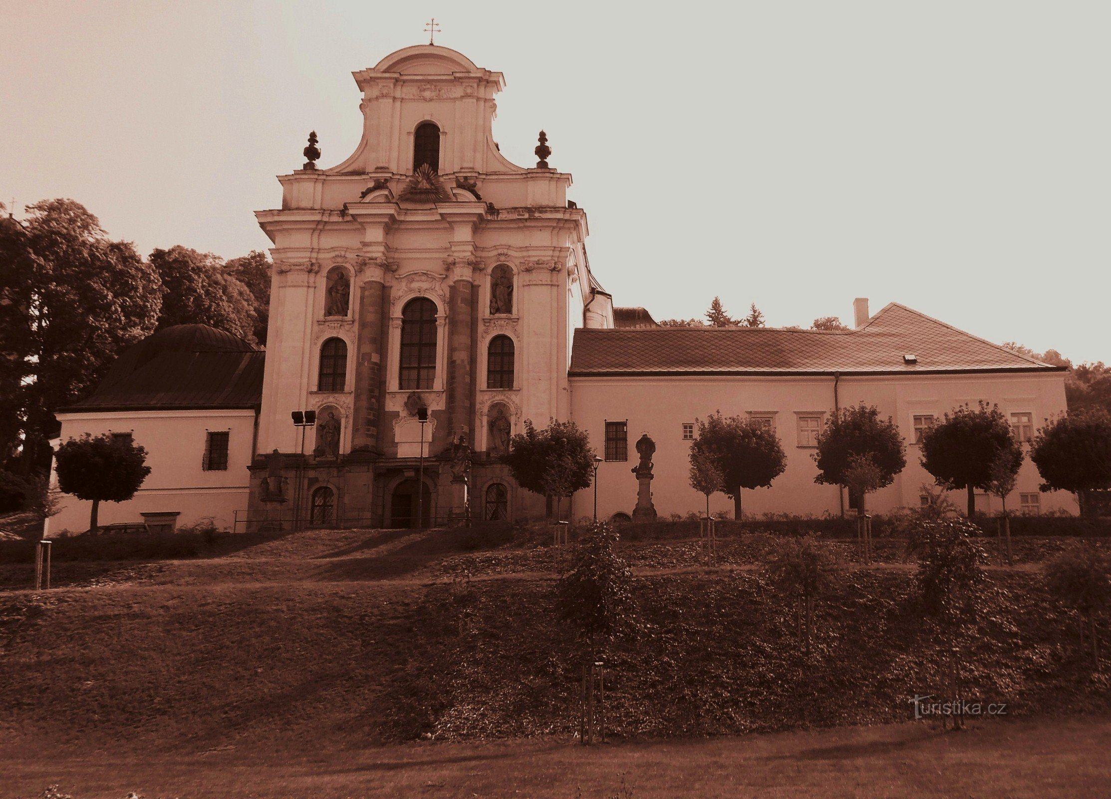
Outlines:
{"type": "Polygon", "coordinates": [[[1092,491],[1111,488],[1111,415],[1095,409],[1058,417],[1038,431],[1030,460],[1043,491],[1072,491],[1081,515],[1094,516],[1092,491]]]}

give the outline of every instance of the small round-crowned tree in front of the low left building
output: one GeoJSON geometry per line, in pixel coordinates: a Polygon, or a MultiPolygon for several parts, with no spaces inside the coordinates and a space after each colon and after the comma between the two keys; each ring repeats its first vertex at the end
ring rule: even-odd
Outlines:
{"type": "Polygon", "coordinates": [[[130,438],[84,433],[71,438],[54,455],[58,487],[78,499],[92,501],[89,531],[97,531],[101,501],[124,502],[136,496],[150,475],[147,450],[130,438]]]}

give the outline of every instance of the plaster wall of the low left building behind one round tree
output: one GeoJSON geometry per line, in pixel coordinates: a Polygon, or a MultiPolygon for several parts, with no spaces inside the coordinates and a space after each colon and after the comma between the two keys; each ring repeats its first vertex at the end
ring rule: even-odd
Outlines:
{"type": "MultiPolygon", "coordinates": [[[[237,510],[247,509],[252,458],[254,411],[133,411],[117,413],[59,413],[61,441],[89,432],[131,432],[147,448],[150,475],[127,502],[101,502],[99,523],[142,522],[142,512],[180,511],[178,526],[212,517],[217,527],[230,528],[237,510]],[[227,471],[201,468],[206,432],[228,430],[227,471]]],[[[57,479],[56,476],[52,476],[57,479]]],[[[47,535],[89,529],[92,502],[63,495],[61,512],[47,521],[47,535]]]]}

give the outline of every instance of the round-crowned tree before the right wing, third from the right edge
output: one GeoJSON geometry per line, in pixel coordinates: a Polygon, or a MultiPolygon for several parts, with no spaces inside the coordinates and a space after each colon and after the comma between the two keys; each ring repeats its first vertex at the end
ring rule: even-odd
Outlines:
{"type": "Polygon", "coordinates": [[[858,495],[863,513],[864,496],[890,486],[905,468],[907,446],[891,417],[880,419],[875,406],[861,402],[830,415],[818,435],[813,459],[818,463],[814,482],[864,491],[858,495]]]}

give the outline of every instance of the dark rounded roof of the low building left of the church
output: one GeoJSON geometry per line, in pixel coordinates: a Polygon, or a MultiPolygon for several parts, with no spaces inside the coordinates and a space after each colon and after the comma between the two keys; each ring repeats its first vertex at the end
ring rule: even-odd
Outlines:
{"type": "Polygon", "coordinates": [[[257,408],[266,352],[206,327],[160,330],[124,352],[88,399],[67,411],[257,408]]]}

